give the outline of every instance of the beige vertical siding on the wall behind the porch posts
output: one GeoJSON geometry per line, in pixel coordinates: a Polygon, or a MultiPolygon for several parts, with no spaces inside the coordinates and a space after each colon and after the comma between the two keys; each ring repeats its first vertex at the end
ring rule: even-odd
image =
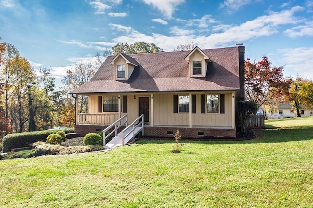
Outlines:
{"type": "MultiPolygon", "coordinates": [[[[175,93],[177,94],[177,93],[175,93]]],[[[188,93],[182,93],[188,94],[188,93]]],[[[194,93],[192,93],[194,94],[194,93]]],[[[196,94],[196,113],[192,114],[193,126],[232,126],[232,94],[225,94],[225,113],[201,113],[201,103],[199,93],[196,94]]],[[[206,93],[207,94],[207,93],[206,93]]],[[[214,94],[214,93],[213,93],[214,94]]],[[[121,94],[121,98],[122,98],[121,94]]],[[[173,95],[172,94],[154,94],[154,125],[189,125],[189,113],[173,113],[173,95]]],[[[89,95],[89,113],[98,113],[98,96],[89,95]]],[[[117,95],[108,95],[117,96],[117,95]]],[[[150,94],[127,94],[127,114],[130,124],[139,116],[139,97],[150,97],[150,94]],[[136,99],[134,99],[134,95],[136,99]]],[[[151,98],[150,98],[151,99],[151,98]]],[[[191,110],[191,106],[190,106],[191,110]]],[[[150,100],[151,112],[151,100],[150,100]]],[[[117,113],[117,112],[116,112],[117,113]]],[[[105,113],[103,113],[105,114],[105,113]]],[[[125,113],[122,113],[125,115],[125,113]]],[[[151,119],[151,114],[150,114],[151,119]]]]}

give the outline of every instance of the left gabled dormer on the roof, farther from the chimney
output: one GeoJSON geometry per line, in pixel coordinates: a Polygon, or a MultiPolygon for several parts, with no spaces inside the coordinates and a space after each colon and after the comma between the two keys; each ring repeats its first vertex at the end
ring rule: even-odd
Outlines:
{"type": "Polygon", "coordinates": [[[115,80],[128,80],[139,63],[132,57],[118,53],[110,62],[114,66],[115,80]]]}

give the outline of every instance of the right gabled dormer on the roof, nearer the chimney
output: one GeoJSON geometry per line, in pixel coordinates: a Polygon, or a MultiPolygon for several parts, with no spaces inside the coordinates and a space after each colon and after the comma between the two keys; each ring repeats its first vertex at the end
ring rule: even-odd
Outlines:
{"type": "Polygon", "coordinates": [[[207,64],[211,62],[198,46],[186,56],[185,61],[189,63],[190,77],[205,77],[207,64]]]}

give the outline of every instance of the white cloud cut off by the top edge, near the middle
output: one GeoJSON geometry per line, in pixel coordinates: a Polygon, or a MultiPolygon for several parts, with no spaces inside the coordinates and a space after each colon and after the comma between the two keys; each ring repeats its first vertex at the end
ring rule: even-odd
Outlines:
{"type": "Polygon", "coordinates": [[[184,3],[185,0],[141,0],[148,5],[152,5],[163,13],[167,18],[172,18],[177,7],[184,3]]]}

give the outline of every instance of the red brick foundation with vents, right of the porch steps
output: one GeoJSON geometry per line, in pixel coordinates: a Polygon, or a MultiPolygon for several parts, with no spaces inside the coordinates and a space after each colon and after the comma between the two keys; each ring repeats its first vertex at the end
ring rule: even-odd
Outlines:
{"type": "Polygon", "coordinates": [[[175,133],[179,129],[182,137],[203,138],[203,137],[236,137],[235,129],[216,129],[216,128],[177,128],[177,127],[144,127],[145,136],[150,137],[173,137],[170,132],[175,133]],[[200,135],[199,135],[200,134],[200,135]]]}

